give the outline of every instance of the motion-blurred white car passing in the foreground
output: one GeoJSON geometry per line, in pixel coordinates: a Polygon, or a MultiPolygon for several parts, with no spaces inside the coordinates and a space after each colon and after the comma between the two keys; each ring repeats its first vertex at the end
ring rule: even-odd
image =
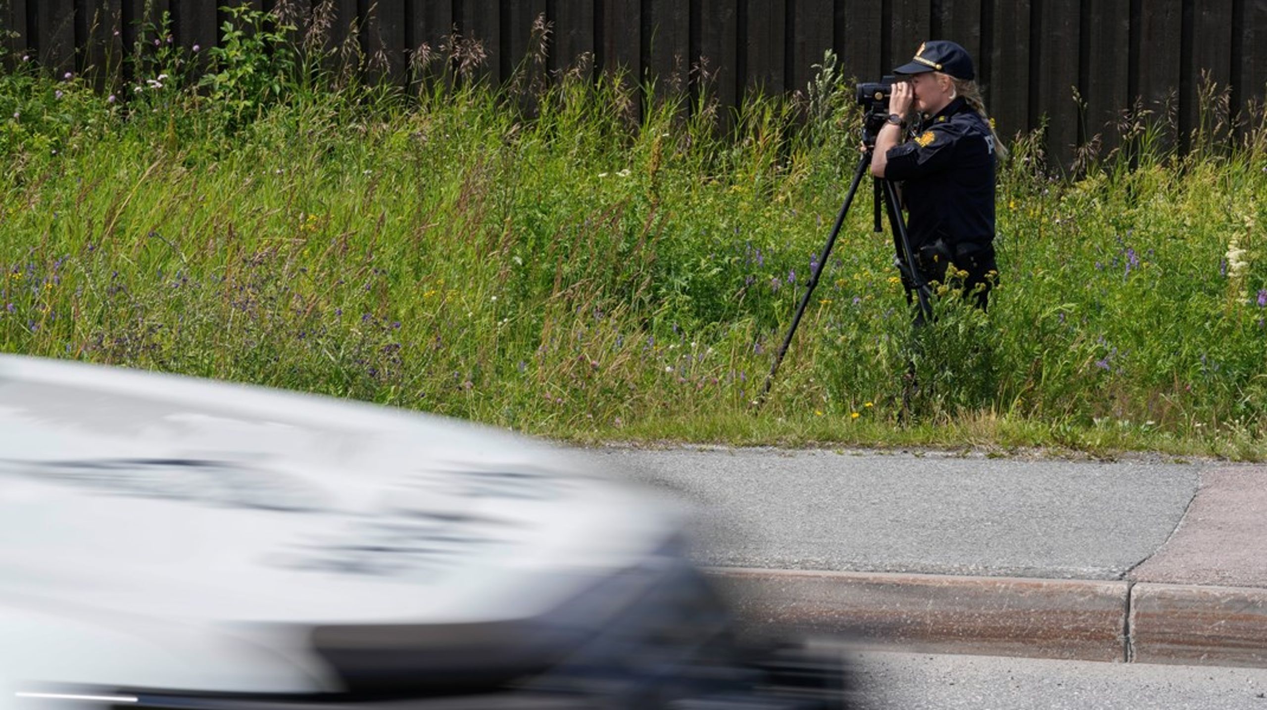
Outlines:
{"type": "Polygon", "coordinates": [[[688,513],[437,416],[0,357],[0,707],[840,706],[734,640],[688,513]]]}

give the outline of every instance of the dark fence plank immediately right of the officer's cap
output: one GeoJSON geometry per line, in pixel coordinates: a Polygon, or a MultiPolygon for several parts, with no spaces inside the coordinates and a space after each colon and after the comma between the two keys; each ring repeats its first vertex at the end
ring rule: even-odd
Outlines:
{"type": "Polygon", "coordinates": [[[1011,140],[1030,129],[1030,0],[993,0],[992,76],[986,103],[998,135],[1011,140]]]}

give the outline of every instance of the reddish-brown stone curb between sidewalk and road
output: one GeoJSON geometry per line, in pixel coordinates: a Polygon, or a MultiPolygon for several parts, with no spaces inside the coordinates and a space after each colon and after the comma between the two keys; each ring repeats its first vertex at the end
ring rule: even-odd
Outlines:
{"type": "Polygon", "coordinates": [[[710,568],[754,632],[927,653],[1267,667],[1267,590],[710,568]]]}

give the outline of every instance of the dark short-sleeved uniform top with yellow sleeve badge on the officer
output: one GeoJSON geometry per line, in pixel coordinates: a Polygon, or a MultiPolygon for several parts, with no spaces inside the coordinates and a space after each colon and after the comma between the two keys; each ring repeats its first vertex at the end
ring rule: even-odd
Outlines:
{"type": "Polygon", "coordinates": [[[943,239],[952,253],[995,238],[995,139],[958,97],[924,121],[915,139],[887,153],[884,177],[903,182],[911,247],[943,239]]]}

